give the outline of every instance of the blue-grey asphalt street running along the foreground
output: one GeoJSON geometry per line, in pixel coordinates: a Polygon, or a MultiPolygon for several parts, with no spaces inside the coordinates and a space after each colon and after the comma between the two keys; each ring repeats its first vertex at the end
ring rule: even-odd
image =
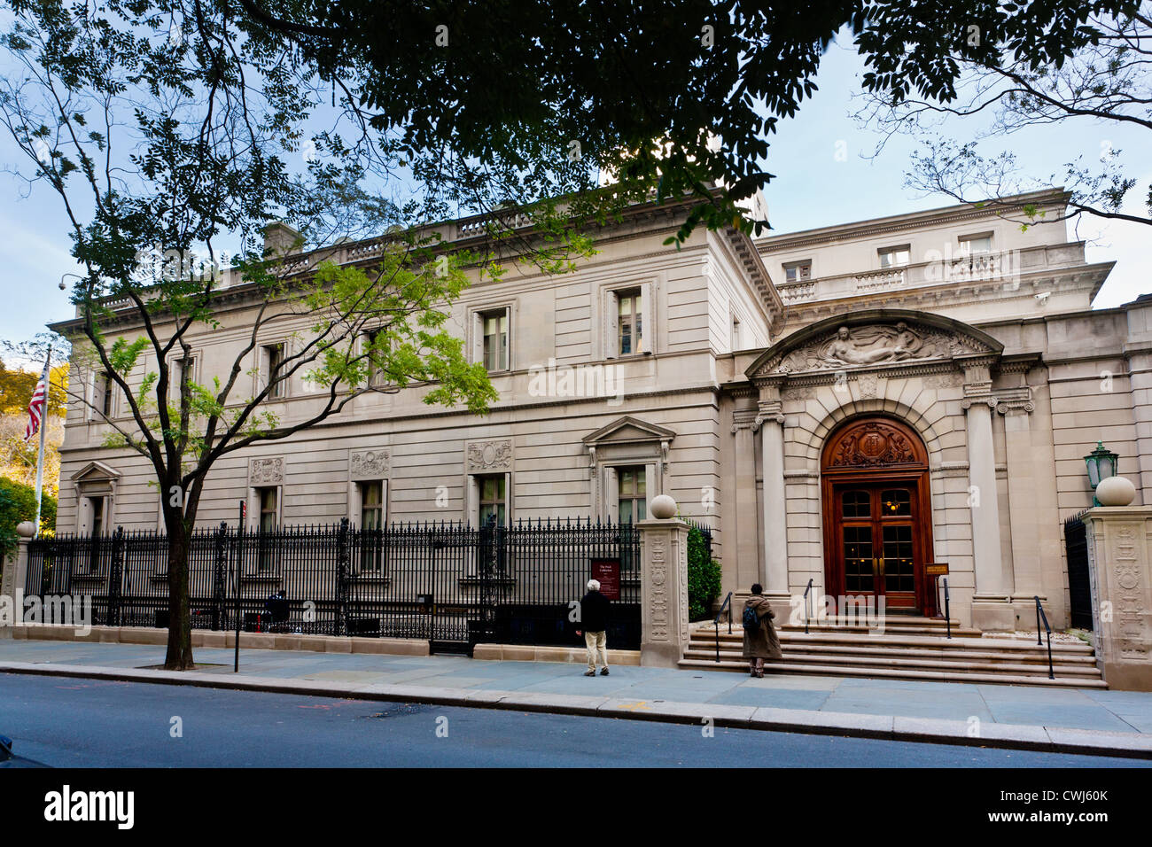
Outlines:
{"type": "Polygon", "coordinates": [[[55,767],[1149,767],[1152,762],[0,674],[0,734],[55,767]]]}

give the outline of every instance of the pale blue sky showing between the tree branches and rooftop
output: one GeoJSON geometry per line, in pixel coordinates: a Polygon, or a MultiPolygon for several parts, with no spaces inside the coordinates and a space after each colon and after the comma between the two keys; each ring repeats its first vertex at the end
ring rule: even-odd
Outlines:
{"type": "MultiPolygon", "coordinates": [[[[764,190],[773,234],[953,203],[941,195],[925,196],[904,187],[909,156],[917,148],[914,138],[895,136],[878,158],[866,158],[879,136],[851,118],[859,105],[852,93],[859,91],[862,73],[855,50],[833,44],[821,62],[814,97],[801,106],[796,118],[780,122],[767,162],[775,179],[764,190]],[[838,157],[838,151],[847,156],[838,157]]],[[[976,127],[970,119],[956,119],[945,129],[958,142],[967,142],[976,127]]],[[[1137,129],[1069,121],[1058,128],[1032,128],[994,139],[984,152],[1011,150],[1028,173],[1043,179],[1061,173],[1064,162],[1077,156],[1091,161],[1105,144],[1122,151],[1128,172],[1138,180],[1126,211],[1146,214],[1139,201],[1152,182],[1152,151],[1137,129]]],[[[48,322],[73,315],[67,292],[61,292],[59,283],[63,274],[76,270],[60,201],[43,187],[25,197],[25,186],[9,173],[16,164],[23,167],[21,157],[10,138],[0,137],[0,339],[9,341],[29,339],[43,332],[48,322]]],[[[1069,234],[1089,242],[1089,262],[1116,262],[1096,308],[1120,305],[1152,292],[1146,263],[1152,228],[1147,225],[1082,218],[1069,234]]]]}

